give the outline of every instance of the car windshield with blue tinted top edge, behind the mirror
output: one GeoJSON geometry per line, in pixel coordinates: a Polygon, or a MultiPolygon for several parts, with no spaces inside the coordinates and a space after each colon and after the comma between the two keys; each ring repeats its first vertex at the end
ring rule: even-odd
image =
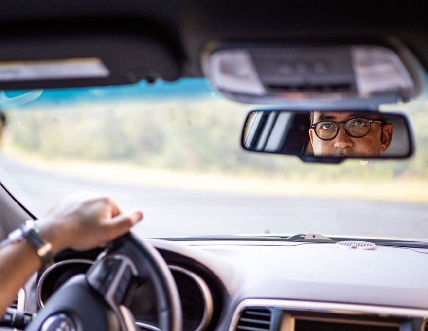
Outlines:
{"type": "MultiPolygon", "coordinates": [[[[205,79],[1,92],[0,180],[37,217],[96,191],[142,209],[146,237],[324,235],[428,239],[428,104],[405,161],[305,164],[242,150],[246,115],[205,79]]],[[[399,107],[399,109],[398,109],[399,107]]]]}

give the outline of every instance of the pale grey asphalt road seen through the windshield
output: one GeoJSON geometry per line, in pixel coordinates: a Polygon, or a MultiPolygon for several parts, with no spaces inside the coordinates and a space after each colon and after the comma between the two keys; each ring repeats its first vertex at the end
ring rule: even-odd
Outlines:
{"type": "Polygon", "coordinates": [[[0,156],[0,179],[42,217],[62,196],[111,195],[124,211],[140,209],[136,231],[148,237],[243,233],[320,233],[428,238],[426,204],[267,197],[112,184],[38,171],[0,156]],[[12,183],[14,178],[16,184],[12,183]],[[23,199],[23,193],[28,199],[23,199]]]}

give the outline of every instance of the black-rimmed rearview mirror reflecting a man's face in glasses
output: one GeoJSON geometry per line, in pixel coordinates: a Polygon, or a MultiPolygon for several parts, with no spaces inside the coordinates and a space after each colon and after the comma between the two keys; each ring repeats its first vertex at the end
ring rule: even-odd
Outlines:
{"type": "Polygon", "coordinates": [[[401,159],[413,153],[404,115],[361,110],[254,110],[245,121],[241,145],[308,162],[401,159]]]}

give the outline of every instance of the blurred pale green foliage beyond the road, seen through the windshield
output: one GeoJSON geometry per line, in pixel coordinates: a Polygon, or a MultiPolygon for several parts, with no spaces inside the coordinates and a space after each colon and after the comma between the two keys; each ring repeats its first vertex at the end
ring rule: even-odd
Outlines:
{"type": "MultiPolygon", "coordinates": [[[[61,105],[8,112],[8,138],[44,158],[129,162],[197,172],[281,176],[296,179],[380,181],[428,178],[428,107],[401,105],[410,113],[416,154],[404,161],[304,164],[296,157],[246,152],[240,147],[245,116],[254,106],[213,97],[61,105]]],[[[391,110],[391,109],[389,109],[391,110]]],[[[403,110],[403,109],[398,109],[403,110]]]]}

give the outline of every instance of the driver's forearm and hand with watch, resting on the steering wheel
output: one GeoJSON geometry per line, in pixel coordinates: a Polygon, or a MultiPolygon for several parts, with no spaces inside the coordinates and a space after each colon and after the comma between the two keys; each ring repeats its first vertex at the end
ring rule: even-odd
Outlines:
{"type": "Polygon", "coordinates": [[[121,214],[108,197],[83,200],[70,196],[37,222],[36,228],[27,222],[15,239],[13,233],[10,235],[12,242],[0,246],[1,316],[31,275],[43,263],[44,267],[49,265],[57,253],[66,248],[88,250],[103,246],[129,232],[142,218],[141,212],[121,214]]]}

